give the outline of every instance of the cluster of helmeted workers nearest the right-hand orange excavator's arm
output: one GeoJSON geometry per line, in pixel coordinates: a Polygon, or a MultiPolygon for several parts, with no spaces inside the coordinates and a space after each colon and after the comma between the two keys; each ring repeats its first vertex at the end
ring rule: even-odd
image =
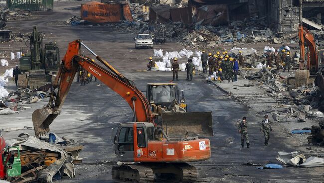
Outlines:
{"type": "Polygon", "coordinates": [[[279,63],[282,63],[284,68],[283,72],[285,72],[286,69],[289,72],[292,64],[290,52],[286,51],[286,49],[282,49],[281,54],[279,54],[277,50],[275,50],[275,52],[268,50],[266,52],[266,60],[267,60],[267,66],[274,67],[273,64],[275,64],[277,70],[280,69],[279,63]]]}

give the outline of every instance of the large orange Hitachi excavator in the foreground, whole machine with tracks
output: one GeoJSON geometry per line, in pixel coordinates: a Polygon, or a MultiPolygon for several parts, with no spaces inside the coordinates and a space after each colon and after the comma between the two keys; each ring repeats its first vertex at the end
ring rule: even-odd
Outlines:
{"type": "Polygon", "coordinates": [[[49,125],[60,114],[78,67],[82,67],[123,97],[134,113],[134,122],[114,128],[112,142],[123,165],[112,168],[112,178],[122,183],[153,183],[154,177],[179,182],[194,182],[197,170],[188,162],[207,160],[211,156],[209,139],[183,137],[172,141],[154,122],[151,106],[135,84],[120,74],[81,40],[69,43],[62,60],[49,103],[32,114],[36,136],[49,132],[49,125]],[[90,51],[106,68],[81,55],[80,47],[90,51]],[[135,162],[135,163],[133,163],[135,162]]]}

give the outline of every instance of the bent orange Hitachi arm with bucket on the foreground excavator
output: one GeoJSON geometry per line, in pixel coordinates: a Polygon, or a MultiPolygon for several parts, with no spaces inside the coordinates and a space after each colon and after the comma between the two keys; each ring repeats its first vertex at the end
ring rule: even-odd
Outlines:
{"type": "Polygon", "coordinates": [[[104,59],[91,51],[81,42],[81,40],[75,40],[69,43],[53,86],[54,90],[50,93],[49,103],[42,109],[35,110],[32,114],[36,136],[41,136],[49,132],[49,125],[60,114],[65,98],[79,67],[87,70],[98,80],[123,97],[132,108],[135,121],[154,123],[150,104],[142,92],[136,88],[135,84],[120,74],[104,59]],[[109,70],[94,62],[93,59],[81,55],[81,46],[84,46],[95,55],[96,59],[109,70]]]}

